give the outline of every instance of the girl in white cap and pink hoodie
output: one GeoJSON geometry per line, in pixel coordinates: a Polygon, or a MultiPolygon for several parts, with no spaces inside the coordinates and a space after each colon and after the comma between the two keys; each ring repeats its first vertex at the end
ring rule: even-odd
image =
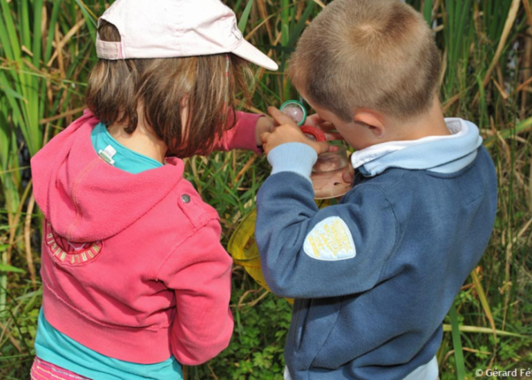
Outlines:
{"type": "Polygon", "coordinates": [[[181,158],[258,152],[235,112],[277,65],[218,0],[117,0],[99,19],[88,110],[32,159],[46,218],[32,379],[180,379],[227,347],[231,259],[181,158]]]}

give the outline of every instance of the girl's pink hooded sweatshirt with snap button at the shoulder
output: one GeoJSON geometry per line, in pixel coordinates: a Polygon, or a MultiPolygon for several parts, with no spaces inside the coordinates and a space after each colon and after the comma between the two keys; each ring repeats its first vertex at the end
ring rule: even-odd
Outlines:
{"type": "MultiPolygon", "coordinates": [[[[237,113],[218,149],[256,151],[259,115],[237,113]]],[[[108,357],[196,365],[227,347],[231,258],[216,210],[183,162],[131,174],[99,158],[90,112],[32,158],[46,218],[43,307],[57,330],[108,357]]]]}

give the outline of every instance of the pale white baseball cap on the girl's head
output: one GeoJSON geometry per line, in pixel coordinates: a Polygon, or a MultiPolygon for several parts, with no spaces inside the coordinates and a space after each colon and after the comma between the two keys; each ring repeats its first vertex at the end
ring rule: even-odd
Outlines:
{"type": "Polygon", "coordinates": [[[277,64],[249,44],[236,15],[220,0],[116,0],[100,20],[112,23],[122,41],[96,40],[104,59],[171,58],[234,53],[258,66],[277,64]]]}

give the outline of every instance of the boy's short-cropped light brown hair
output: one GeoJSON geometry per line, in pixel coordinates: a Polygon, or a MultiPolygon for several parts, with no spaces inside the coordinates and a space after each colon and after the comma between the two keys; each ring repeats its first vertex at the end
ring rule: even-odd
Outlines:
{"type": "Polygon", "coordinates": [[[334,0],[298,41],[289,76],[348,122],[358,108],[401,120],[428,111],[440,54],[419,12],[399,0],[334,0]]]}

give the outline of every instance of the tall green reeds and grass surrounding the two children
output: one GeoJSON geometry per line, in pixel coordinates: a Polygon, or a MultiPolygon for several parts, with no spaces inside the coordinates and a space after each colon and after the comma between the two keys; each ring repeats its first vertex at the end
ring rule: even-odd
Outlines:
{"type": "MultiPolygon", "coordinates": [[[[0,0],[0,378],[28,379],[41,305],[41,214],[29,160],[84,108],[106,0],[0,0]]],[[[298,95],[285,64],[325,0],[227,0],[245,37],[281,64],[256,71],[253,108],[298,95]]],[[[532,12],[530,0],[410,0],[441,48],[448,116],[477,123],[499,178],[491,243],[445,321],[441,379],[532,367],[532,12]]],[[[400,94],[398,94],[400,96],[400,94]]],[[[187,160],[188,178],[218,209],[224,243],[254,206],[263,157],[235,151],[187,160]]],[[[231,345],[189,379],[282,379],[286,301],[234,267],[231,345]]],[[[420,289],[422,292],[423,289],[420,289]]],[[[510,378],[510,377],[500,377],[510,378]]],[[[517,378],[527,378],[517,377],[517,378]]]]}

